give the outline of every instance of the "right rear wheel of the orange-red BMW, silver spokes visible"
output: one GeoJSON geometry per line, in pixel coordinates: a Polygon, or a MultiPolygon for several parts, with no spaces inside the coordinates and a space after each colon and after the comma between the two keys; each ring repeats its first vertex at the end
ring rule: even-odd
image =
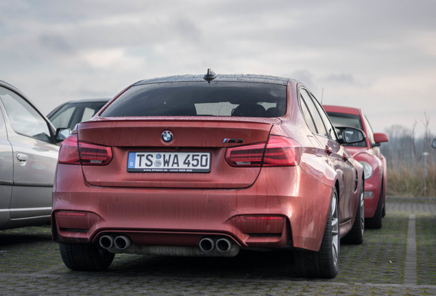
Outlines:
{"type": "Polygon", "coordinates": [[[334,189],[324,236],[319,251],[295,251],[295,265],[300,277],[335,277],[339,271],[339,209],[334,189]]]}

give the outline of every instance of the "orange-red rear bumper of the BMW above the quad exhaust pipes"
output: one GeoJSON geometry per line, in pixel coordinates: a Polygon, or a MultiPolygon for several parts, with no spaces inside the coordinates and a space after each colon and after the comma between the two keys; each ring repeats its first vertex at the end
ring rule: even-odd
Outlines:
{"type": "Polygon", "coordinates": [[[197,246],[224,236],[241,247],[317,251],[332,188],[299,167],[262,169],[243,189],[90,186],[80,166],[59,164],[53,190],[53,238],[97,243],[123,234],[134,245],[197,246]]]}

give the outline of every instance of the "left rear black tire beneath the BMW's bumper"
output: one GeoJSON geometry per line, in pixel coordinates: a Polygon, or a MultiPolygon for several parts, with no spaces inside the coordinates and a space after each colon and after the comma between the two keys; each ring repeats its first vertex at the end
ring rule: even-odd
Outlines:
{"type": "Polygon", "coordinates": [[[77,271],[102,271],[107,269],[115,254],[88,244],[60,244],[60,256],[69,269],[77,271]]]}

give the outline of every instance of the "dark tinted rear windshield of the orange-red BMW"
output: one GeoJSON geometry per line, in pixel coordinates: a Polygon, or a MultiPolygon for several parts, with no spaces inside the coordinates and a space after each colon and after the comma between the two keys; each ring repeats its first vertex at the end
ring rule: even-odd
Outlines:
{"type": "Polygon", "coordinates": [[[123,116],[278,117],[286,88],[256,82],[165,82],[132,86],[100,114],[123,116]]]}

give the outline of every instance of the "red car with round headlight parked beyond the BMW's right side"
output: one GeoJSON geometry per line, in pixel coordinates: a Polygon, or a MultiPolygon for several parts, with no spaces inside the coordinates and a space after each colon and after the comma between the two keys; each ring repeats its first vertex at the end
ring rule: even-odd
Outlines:
{"type": "Polygon", "coordinates": [[[383,133],[372,132],[372,127],[358,108],[324,105],[333,125],[338,127],[356,127],[366,134],[366,141],[348,144],[346,148],[363,165],[365,171],[365,226],[382,227],[385,217],[386,199],[386,159],[380,153],[380,143],[387,142],[383,133]]]}

